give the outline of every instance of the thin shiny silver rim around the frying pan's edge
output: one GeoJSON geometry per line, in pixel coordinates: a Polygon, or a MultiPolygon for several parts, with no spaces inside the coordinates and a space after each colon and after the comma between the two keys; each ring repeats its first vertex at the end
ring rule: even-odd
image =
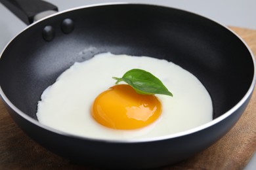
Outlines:
{"type": "MultiPolygon", "coordinates": [[[[9,46],[9,44],[11,44],[11,42],[14,39],[16,39],[16,37],[18,37],[18,35],[20,35],[24,31],[26,31],[27,29],[30,29],[30,27],[32,27],[33,25],[41,22],[42,20],[47,20],[48,18],[52,18],[53,16],[57,16],[59,14],[65,13],[65,12],[70,12],[70,11],[79,10],[79,9],[85,9],[85,8],[89,8],[89,7],[101,7],[101,6],[106,6],[106,5],[152,5],[152,6],[157,6],[157,7],[167,7],[167,6],[164,6],[164,5],[156,5],[156,4],[149,4],[149,3],[118,2],[118,3],[97,3],[97,4],[93,4],[93,5],[84,5],[84,6],[81,6],[81,7],[75,7],[75,8],[72,8],[72,9],[63,10],[61,12],[56,12],[55,14],[51,14],[51,15],[45,17],[45,18],[42,18],[41,20],[37,20],[37,22],[34,22],[31,25],[28,25],[25,29],[20,31],[20,33],[18,33],[16,36],[14,36],[11,39],[11,41],[9,41],[7,43],[7,45],[5,46],[3,51],[1,52],[0,59],[1,59],[1,56],[3,56],[3,53],[5,52],[6,48],[9,46]]],[[[188,12],[190,14],[194,14],[194,15],[200,16],[200,17],[204,18],[205,20],[210,20],[211,22],[215,22],[215,24],[221,25],[224,29],[227,29],[233,35],[238,37],[238,39],[240,39],[240,41],[245,45],[245,47],[249,51],[249,54],[251,54],[251,59],[252,59],[252,62],[253,62],[254,73],[253,73],[253,79],[251,81],[251,85],[249,86],[249,89],[245,93],[244,97],[242,97],[242,99],[240,99],[240,101],[238,101],[238,103],[236,103],[236,105],[234,105],[227,112],[224,112],[221,116],[211,120],[211,122],[207,122],[206,124],[203,124],[203,125],[198,126],[198,127],[194,127],[192,129],[188,129],[186,131],[181,131],[179,133],[173,133],[173,134],[164,135],[164,136],[160,136],[160,137],[150,137],[150,138],[144,138],[144,139],[96,139],[96,138],[82,137],[82,136],[79,136],[79,135],[74,135],[74,134],[71,134],[71,133],[66,133],[64,131],[60,131],[60,130],[57,130],[57,129],[54,129],[52,127],[45,126],[45,125],[39,123],[37,120],[35,120],[32,117],[28,116],[27,114],[22,112],[20,109],[18,109],[13,104],[8,99],[8,97],[5,95],[5,93],[3,92],[2,88],[1,88],[1,84],[0,84],[0,96],[3,99],[3,102],[7,103],[7,105],[9,107],[11,107],[11,109],[14,110],[14,112],[16,112],[16,114],[18,114],[19,116],[21,116],[22,118],[24,118],[28,122],[31,122],[35,126],[41,127],[42,129],[45,129],[47,131],[51,131],[53,133],[58,133],[59,135],[64,135],[66,137],[75,137],[75,138],[81,139],[81,140],[98,141],[98,142],[104,142],[104,143],[148,143],[148,142],[155,142],[155,141],[163,141],[163,140],[168,140],[168,139],[175,139],[177,137],[184,137],[186,135],[191,135],[192,133],[197,133],[198,131],[202,131],[203,129],[207,129],[208,127],[211,127],[211,126],[214,126],[215,124],[218,124],[219,122],[221,122],[222,120],[224,120],[225,118],[227,118],[228,116],[233,114],[236,110],[238,110],[245,103],[245,101],[250,98],[250,95],[253,93],[253,90],[254,90],[255,84],[256,84],[256,62],[255,62],[255,57],[253,55],[253,52],[251,51],[249,46],[245,43],[245,41],[237,33],[235,33],[230,28],[228,28],[226,25],[220,24],[219,22],[216,22],[215,20],[212,20],[212,19],[207,18],[205,16],[202,16],[200,14],[196,14],[194,12],[190,12],[188,10],[177,9],[177,8],[173,8],[173,7],[167,7],[167,8],[175,9],[175,10],[181,10],[183,12],[188,12]]]]}

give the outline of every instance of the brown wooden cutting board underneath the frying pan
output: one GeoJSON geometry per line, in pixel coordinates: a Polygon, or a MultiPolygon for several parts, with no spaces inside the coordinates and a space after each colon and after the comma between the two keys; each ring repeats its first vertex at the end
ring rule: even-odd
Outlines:
{"type": "MultiPolygon", "coordinates": [[[[256,56],[256,30],[230,27],[256,56]]],[[[255,90],[256,91],[256,90],[255,90]]],[[[220,141],[188,160],[163,169],[243,169],[256,150],[256,92],[244,114],[220,141]]],[[[95,169],[45,150],[16,126],[0,99],[0,169],[95,169]]]]}

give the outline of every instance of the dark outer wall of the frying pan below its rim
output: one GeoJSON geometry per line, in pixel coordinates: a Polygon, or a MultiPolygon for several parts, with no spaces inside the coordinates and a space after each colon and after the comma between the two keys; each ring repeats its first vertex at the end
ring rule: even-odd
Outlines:
{"type": "Polygon", "coordinates": [[[18,126],[32,139],[64,158],[100,168],[148,169],[177,163],[215,143],[236,124],[250,97],[218,124],[189,135],[142,143],[95,141],[60,135],[36,126],[9,110],[18,126]]]}

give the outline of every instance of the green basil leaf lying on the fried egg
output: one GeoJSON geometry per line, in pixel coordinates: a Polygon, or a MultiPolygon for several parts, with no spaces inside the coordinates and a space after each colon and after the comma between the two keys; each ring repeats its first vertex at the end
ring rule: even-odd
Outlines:
{"type": "Polygon", "coordinates": [[[113,77],[116,84],[123,81],[132,86],[140,94],[163,94],[173,96],[171,92],[163,85],[161,80],[148,71],[142,69],[131,69],[121,78],[113,77]]]}

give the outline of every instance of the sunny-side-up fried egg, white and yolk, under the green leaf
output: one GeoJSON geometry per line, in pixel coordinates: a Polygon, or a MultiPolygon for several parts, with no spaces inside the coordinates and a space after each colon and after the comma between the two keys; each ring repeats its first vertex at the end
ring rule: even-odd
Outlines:
{"type": "Polygon", "coordinates": [[[41,95],[41,124],[92,139],[145,139],[192,129],[213,119],[211,97],[185,69],[165,59],[97,54],[74,63],[41,95]],[[141,95],[131,86],[115,85],[131,69],[158,77],[169,95],[141,95]]]}

